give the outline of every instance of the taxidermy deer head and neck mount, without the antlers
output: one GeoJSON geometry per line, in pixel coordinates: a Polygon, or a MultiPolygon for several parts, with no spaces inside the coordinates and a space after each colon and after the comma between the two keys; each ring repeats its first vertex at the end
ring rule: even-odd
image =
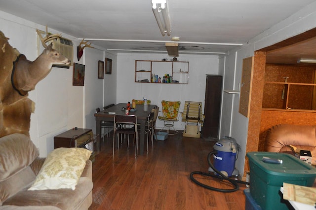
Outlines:
{"type": "Polygon", "coordinates": [[[70,62],[68,58],[52,48],[52,43],[33,62],[20,54],[14,61],[11,75],[12,86],[20,95],[25,95],[49,74],[53,64],[69,65],[70,62]]]}

